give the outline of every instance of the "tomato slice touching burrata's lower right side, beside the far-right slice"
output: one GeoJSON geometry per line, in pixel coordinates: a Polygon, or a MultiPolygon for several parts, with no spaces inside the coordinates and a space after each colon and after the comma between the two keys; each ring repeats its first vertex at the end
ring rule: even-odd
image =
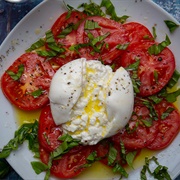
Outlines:
{"type": "Polygon", "coordinates": [[[158,132],[158,122],[153,121],[151,127],[146,127],[141,120],[150,118],[148,108],[140,102],[135,102],[134,113],[128,123],[130,133],[124,128],[112,137],[112,141],[120,144],[122,141],[128,149],[142,149],[151,144],[158,132]]]}

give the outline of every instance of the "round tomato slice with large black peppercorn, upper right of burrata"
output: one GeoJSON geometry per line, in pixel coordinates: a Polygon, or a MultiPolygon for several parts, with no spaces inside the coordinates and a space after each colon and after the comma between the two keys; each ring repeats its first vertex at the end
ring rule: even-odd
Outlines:
{"type": "Polygon", "coordinates": [[[148,48],[153,44],[153,42],[133,44],[121,56],[123,67],[134,63],[137,58],[140,59],[138,69],[141,81],[140,96],[149,96],[160,91],[168,83],[175,70],[174,55],[168,48],[158,55],[148,53],[148,48]]]}

